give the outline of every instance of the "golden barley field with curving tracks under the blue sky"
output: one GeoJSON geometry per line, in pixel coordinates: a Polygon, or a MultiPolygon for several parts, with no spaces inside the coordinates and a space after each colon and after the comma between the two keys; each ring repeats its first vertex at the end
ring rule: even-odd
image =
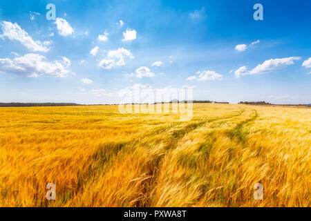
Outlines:
{"type": "Polygon", "coordinates": [[[0,108],[0,206],[310,206],[310,147],[311,108],[0,108]]]}

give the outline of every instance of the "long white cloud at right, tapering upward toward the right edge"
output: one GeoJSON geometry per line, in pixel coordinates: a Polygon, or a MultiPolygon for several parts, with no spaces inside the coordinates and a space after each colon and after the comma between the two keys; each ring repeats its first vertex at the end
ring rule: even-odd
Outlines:
{"type": "Polygon", "coordinates": [[[264,61],[263,64],[258,64],[256,68],[252,70],[247,70],[247,66],[242,66],[241,68],[238,68],[234,72],[236,77],[241,77],[241,75],[257,75],[262,73],[269,73],[273,70],[277,70],[279,68],[283,68],[286,66],[289,66],[291,64],[294,64],[294,61],[301,59],[300,57],[284,57],[281,59],[269,59],[267,61],[264,61]]]}

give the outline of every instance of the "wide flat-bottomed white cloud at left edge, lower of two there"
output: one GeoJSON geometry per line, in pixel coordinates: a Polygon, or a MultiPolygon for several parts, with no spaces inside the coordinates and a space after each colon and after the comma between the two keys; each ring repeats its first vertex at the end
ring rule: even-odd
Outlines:
{"type": "MultiPolygon", "coordinates": [[[[27,54],[15,59],[0,59],[0,72],[19,75],[21,77],[67,77],[70,60],[62,57],[60,61],[48,62],[46,57],[37,54],[27,54]]],[[[71,73],[73,74],[73,73],[71,73]]]]}

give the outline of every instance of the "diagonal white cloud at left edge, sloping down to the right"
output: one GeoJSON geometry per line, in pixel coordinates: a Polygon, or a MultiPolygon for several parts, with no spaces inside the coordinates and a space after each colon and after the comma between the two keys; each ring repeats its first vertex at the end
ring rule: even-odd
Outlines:
{"type": "Polygon", "coordinates": [[[17,40],[32,51],[48,52],[48,50],[50,50],[50,48],[46,47],[50,41],[44,41],[44,43],[41,43],[41,41],[34,41],[17,23],[13,24],[10,21],[3,21],[1,23],[1,28],[3,34],[0,35],[0,38],[7,37],[11,41],[17,40]]]}

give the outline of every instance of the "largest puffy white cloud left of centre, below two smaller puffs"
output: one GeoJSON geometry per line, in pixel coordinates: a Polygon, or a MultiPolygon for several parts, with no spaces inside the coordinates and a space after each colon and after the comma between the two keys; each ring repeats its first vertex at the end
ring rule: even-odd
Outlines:
{"type": "Polygon", "coordinates": [[[111,69],[115,66],[124,66],[125,58],[129,57],[133,59],[133,55],[130,50],[126,50],[125,48],[118,48],[117,50],[110,50],[105,59],[100,61],[100,67],[105,69],[111,69]]]}

